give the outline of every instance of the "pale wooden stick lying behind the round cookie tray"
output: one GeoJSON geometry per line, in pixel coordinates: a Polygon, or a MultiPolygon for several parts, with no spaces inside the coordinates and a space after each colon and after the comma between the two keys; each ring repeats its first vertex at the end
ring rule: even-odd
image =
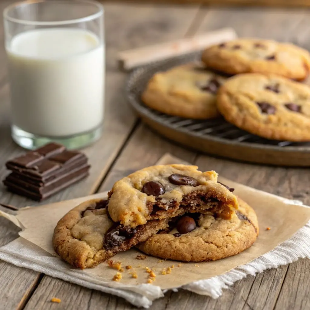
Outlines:
{"type": "Polygon", "coordinates": [[[234,29],[223,28],[191,38],[122,51],[118,53],[118,61],[122,69],[130,70],[154,60],[164,60],[190,52],[200,51],[210,45],[229,41],[234,38],[237,38],[234,29]]]}

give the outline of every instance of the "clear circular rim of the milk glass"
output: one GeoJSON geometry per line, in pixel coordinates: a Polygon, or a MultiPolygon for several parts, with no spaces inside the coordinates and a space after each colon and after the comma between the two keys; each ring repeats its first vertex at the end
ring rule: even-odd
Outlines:
{"type": "MultiPolygon", "coordinates": [[[[77,3],[84,3],[84,4],[91,4],[94,5],[98,8],[98,12],[87,15],[85,17],[81,18],[76,18],[76,19],[70,19],[70,20],[60,20],[60,21],[33,21],[33,20],[23,20],[19,18],[14,18],[9,16],[9,11],[14,9],[15,7],[19,7],[21,5],[31,5],[31,4],[38,4],[38,3],[44,3],[48,2],[45,0],[27,0],[27,1],[20,1],[20,2],[15,2],[9,6],[7,6],[4,11],[3,11],[3,18],[5,20],[9,20],[11,22],[15,22],[18,24],[23,24],[23,25],[38,25],[38,26],[59,26],[59,25],[68,25],[68,24],[75,24],[75,23],[80,23],[80,22],[87,22],[91,20],[95,20],[99,18],[100,16],[103,15],[104,13],[104,7],[102,4],[100,4],[97,1],[92,1],[92,0],[70,0],[67,2],[69,4],[77,4],[77,3]]],[[[58,2],[58,3],[63,3],[64,1],[61,0],[53,0],[53,2],[58,2]]]]}

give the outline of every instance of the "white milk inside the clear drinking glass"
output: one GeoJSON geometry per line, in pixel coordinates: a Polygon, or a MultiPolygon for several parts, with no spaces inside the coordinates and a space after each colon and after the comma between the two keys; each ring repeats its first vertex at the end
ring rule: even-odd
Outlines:
{"type": "Polygon", "coordinates": [[[16,35],[7,46],[14,125],[41,136],[91,131],[103,118],[104,47],[82,29],[16,35]]]}

